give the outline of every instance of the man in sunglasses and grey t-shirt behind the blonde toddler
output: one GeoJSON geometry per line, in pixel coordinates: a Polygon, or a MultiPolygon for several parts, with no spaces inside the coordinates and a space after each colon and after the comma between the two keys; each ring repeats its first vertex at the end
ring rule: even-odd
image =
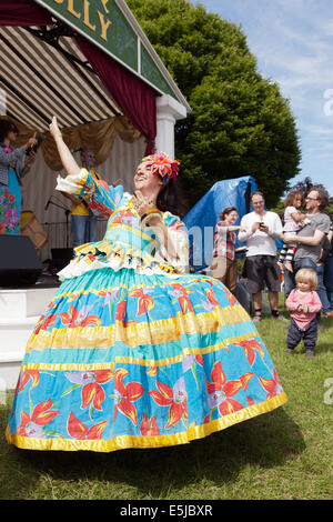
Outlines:
{"type": "Polygon", "coordinates": [[[323,282],[324,265],[321,261],[323,243],[330,232],[331,220],[323,212],[329,204],[329,193],[322,185],[313,185],[305,198],[306,217],[310,223],[297,232],[297,235],[284,234],[283,241],[297,244],[294,255],[293,272],[285,270],[284,291],[286,297],[295,287],[295,273],[301,268],[313,269],[317,274],[317,293],[322,302],[322,311],[325,317],[333,317],[330,311],[330,302],[323,282]]]}

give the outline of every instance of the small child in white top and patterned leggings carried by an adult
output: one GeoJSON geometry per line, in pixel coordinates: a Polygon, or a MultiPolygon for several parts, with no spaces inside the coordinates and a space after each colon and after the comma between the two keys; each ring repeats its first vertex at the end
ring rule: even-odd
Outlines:
{"type": "MultiPolygon", "coordinates": [[[[302,214],[302,212],[299,210],[302,204],[303,195],[301,192],[290,192],[285,198],[283,233],[292,233],[296,235],[297,231],[304,227],[304,224],[310,223],[310,220],[306,218],[306,215],[302,214]]],[[[294,259],[295,248],[296,244],[283,244],[279,258],[279,265],[281,270],[283,270],[284,264],[290,272],[293,272],[292,261],[294,259]]]]}

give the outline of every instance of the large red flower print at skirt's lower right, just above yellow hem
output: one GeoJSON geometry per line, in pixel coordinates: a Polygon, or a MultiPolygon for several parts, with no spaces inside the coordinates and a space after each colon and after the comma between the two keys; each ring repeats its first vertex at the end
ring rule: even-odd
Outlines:
{"type": "Polygon", "coordinates": [[[243,383],[248,388],[252,377],[253,373],[244,373],[239,381],[226,381],[221,361],[216,362],[211,372],[212,382],[206,382],[208,401],[211,410],[218,406],[221,415],[228,415],[234,411],[242,410],[244,406],[232,399],[232,396],[243,388],[243,383]]]}

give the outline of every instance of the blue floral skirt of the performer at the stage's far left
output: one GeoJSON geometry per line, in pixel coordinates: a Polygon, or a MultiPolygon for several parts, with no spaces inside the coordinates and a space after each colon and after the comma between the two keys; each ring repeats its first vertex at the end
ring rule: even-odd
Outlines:
{"type": "Polygon", "coordinates": [[[19,235],[21,189],[13,169],[9,169],[8,178],[8,185],[0,183],[0,234],[19,235]]]}

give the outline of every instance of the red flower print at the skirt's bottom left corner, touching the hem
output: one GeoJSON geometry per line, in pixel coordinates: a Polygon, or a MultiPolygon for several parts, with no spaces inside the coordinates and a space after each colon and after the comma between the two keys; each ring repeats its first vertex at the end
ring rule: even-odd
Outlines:
{"type": "Polygon", "coordinates": [[[17,435],[44,439],[46,433],[42,426],[49,424],[54,419],[54,416],[60,413],[57,410],[50,410],[51,406],[52,401],[49,399],[46,402],[40,402],[37,404],[31,416],[22,410],[21,424],[17,430],[17,435]]]}

